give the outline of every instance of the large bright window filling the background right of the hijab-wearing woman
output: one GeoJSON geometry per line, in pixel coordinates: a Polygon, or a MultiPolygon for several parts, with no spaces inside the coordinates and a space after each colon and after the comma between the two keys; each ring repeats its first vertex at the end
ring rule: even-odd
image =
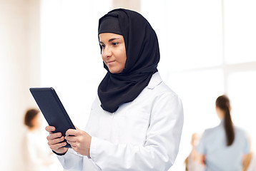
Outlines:
{"type": "Polygon", "coordinates": [[[252,0],[142,0],[142,14],[159,37],[159,73],[184,105],[179,154],[170,170],[184,170],[192,133],[218,125],[215,100],[224,93],[233,122],[256,142],[255,8],[252,0]]]}

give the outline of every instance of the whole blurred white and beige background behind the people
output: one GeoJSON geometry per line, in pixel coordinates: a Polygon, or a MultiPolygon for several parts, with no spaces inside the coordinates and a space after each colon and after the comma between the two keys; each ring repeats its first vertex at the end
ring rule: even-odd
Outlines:
{"type": "Polygon", "coordinates": [[[24,113],[37,108],[30,87],[54,87],[74,125],[84,128],[106,74],[98,20],[120,7],[152,25],[159,73],[183,101],[182,140],[170,170],[184,170],[193,133],[219,124],[215,100],[224,93],[255,149],[256,1],[0,0],[0,170],[23,168],[24,113]]]}

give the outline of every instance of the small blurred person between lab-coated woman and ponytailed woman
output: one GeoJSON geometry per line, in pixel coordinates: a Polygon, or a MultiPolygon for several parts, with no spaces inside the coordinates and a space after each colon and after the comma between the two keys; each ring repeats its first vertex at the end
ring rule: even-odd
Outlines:
{"type": "Polygon", "coordinates": [[[184,161],[186,165],[186,171],[203,171],[205,170],[205,165],[202,165],[200,162],[200,155],[198,154],[196,147],[201,138],[199,133],[194,133],[191,138],[190,144],[192,145],[192,150],[189,153],[189,156],[184,161]]]}

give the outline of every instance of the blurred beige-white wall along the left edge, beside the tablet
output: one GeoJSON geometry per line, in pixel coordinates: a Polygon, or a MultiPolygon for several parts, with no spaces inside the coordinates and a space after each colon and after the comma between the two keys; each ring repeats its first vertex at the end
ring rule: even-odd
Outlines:
{"type": "Polygon", "coordinates": [[[39,86],[39,0],[0,0],[0,170],[21,170],[30,86],[39,86]]]}

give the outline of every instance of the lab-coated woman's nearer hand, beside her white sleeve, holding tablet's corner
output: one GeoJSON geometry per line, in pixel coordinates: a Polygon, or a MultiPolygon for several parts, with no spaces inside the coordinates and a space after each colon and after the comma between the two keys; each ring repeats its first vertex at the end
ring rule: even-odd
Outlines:
{"type": "Polygon", "coordinates": [[[76,129],[67,130],[65,139],[74,151],[89,157],[92,137],[83,130],[79,130],[77,127],[76,129]]]}

